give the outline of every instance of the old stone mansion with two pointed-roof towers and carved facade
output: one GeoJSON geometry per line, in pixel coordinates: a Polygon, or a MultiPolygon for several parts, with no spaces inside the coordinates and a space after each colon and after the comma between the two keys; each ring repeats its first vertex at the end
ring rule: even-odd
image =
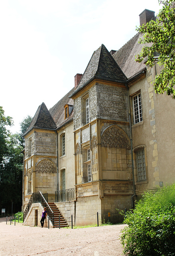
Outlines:
{"type": "MultiPolygon", "coordinates": [[[[144,10],[141,25],[151,18],[144,10]]],[[[68,94],[50,110],[39,106],[24,134],[24,210],[40,191],[68,223],[71,215],[76,224],[96,222],[97,212],[116,223],[116,208],[175,182],[175,101],[154,92],[161,67],[135,61],[141,36],[117,51],[102,44],[68,94]]],[[[32,202],[25,224],[38,224],[41,205],[32,202]]]]}

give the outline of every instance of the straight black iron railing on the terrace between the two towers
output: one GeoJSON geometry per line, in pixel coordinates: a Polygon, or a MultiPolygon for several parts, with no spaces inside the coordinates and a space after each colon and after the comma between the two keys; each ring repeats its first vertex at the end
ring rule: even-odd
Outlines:
{"type": "Polygon", "coordinates": [[[55,191],[55,202],[71,201],[75,199],[75,188],[55,191]]]}

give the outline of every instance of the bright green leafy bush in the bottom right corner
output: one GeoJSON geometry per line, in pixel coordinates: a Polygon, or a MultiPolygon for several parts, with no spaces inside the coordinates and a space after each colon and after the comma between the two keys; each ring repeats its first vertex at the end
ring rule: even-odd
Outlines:
{"type": "Polygon", "coordinates": [[[128,256],[175,255],[175,184],[146,192],[134,210],[126,213],[128,224],[121,235],[128,256]]]}

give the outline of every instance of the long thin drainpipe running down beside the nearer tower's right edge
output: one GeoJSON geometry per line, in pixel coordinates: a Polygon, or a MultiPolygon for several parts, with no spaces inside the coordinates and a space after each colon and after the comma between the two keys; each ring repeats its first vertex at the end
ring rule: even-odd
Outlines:
{"type": "Polygon", "coordinates": [[[129,95],[129,87],[126,84],[127,93],[128,93],[128,112],[129,112],[129,122],[130,122],[130,141],[131,141],[131,160],[132,160],[132,180],[133,180],[133,191],[134,194],[131,197],[131,205],[134,208],[134,196],[136,195],[136,187],[135,187],[135,177],[134,177],[134,160],[133,160],[133,147],[132,147],[132,126],[131,126],[131,108],[130,108],[130,95],[129,95]]]}

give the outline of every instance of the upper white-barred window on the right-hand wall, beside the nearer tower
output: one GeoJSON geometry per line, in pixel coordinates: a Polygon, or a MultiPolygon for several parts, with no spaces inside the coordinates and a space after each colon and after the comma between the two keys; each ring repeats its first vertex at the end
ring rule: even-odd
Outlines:
{"type": "Polygon", "coordinates": [[[135,122],[135,124],[137,124],[143,120],[142,100],[141,100],[140,93],[133,97],[133,107],[134,107],[134,122],[135,122]]]}

